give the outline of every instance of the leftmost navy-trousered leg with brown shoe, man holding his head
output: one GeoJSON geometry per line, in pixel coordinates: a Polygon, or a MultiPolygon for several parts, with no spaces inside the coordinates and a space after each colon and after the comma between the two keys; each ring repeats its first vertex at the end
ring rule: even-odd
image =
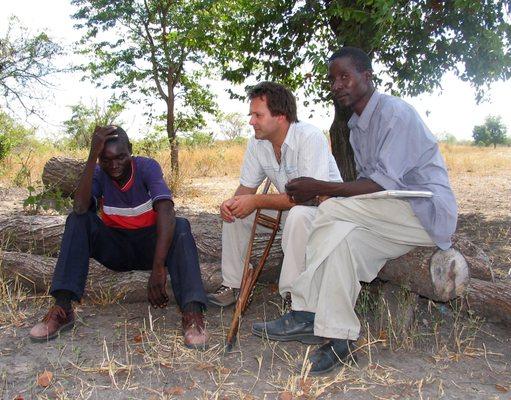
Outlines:
{"type": "MultiPolygon", "coordinates": [[[[85,214],[71,213],[66,220],[59,258],[53,273],[50,294],[55,297],[56,305],[50,309],[43,321],[30,331],[34,341],[46,341],[58,335],[63,329],[69,329],[74,323],[71,301],[79,301],[83,296],[89,257],[108,253],[108,258],[125,256],[128,249],[119,247],[119,238],[104,226],[93,212],[85,214]]],[[[100,258],[100,257],[99,257],[100,258]]],[[[98,258],[98,261],[101,261],[98,258]]],[[[122,260],[120,260],[122,262],[122,260]]]]}

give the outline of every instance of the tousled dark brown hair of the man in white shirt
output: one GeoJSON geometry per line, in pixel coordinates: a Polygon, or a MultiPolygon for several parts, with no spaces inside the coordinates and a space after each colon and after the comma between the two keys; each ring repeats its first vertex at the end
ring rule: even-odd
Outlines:
{"type": "Polygon", "coordinates": [[[275,82],[260,82],[248,88],[247,95],[250,100],[264,97],[273,117],[284,115],[288,122],[298,122],[295,96],[284,85],[275,82]]]}

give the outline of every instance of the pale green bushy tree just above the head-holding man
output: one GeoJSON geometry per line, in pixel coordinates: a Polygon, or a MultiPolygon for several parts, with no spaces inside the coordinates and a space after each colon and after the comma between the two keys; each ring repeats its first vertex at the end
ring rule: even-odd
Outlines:
{"type": "Polygon", "coordinates": [[[89,148],[96,126],[114,123],[122,125],[118,118],[123,110],[124,104],[117,102],[115,98],[110,99],[106,106],[100,106],[97,101],[92,106],[82,102],[71,106],[71,118],[64,121],[71,147],[89,148]]]}

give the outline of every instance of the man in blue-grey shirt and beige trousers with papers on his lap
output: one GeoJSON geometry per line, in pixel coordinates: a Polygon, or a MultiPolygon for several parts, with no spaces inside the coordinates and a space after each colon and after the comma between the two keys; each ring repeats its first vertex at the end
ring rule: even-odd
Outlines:
{"type": "Polygon", "coordinates": [[[298,204],[331,198],[318,207],[306,270],[291,289],[292,311],[252,327],[272,340],[327,338],[309,357],[311,374],[351,359],[360,333],[354,311],[359,281],[371,282],[387,260],[415,246],[449,248],[456,228],[456,200],[436,139],[413,107],[375,91],[372,78],[371,60],[358,48],[344,47],[329,60],[332,94],[353,110],[348,126],[357,180],[304,177],[286,185],[298,204]],[[430,191],[433,197],[352,198],[382,190],[430,191]]]}

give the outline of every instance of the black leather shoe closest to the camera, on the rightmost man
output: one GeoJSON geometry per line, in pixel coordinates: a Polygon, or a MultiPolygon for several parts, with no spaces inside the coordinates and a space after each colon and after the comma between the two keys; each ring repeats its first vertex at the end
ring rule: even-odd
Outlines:
{"type": "Polygon", "coordinates": [[[310,356],[312,364],[310,374],[321,375],[332,371],[341,364],[356,361],[353,353],[354,341],[346,339],[333,339],[317,348],[310,356]]]}

